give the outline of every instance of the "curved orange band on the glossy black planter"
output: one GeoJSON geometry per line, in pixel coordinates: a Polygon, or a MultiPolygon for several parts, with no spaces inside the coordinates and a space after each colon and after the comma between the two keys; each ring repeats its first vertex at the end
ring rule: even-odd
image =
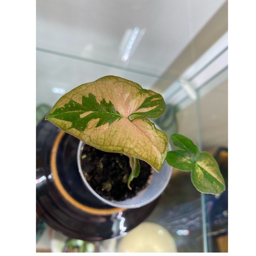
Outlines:
{"type": "Polygon", "coordinates": [[[98,209],[98,208],[88,207],[86,205],[83,205],[83,204],[79,203],[73,197],[71,197],[71,195],[69,195],[69,193],[66,191],[66,189],[61,184],[61,181],[60,181],[59,175],[58,175],[58,171],[57,171],[57,165],[56,165],[58,146],[59,146],[59,143],[60,143],[62,137],[64,136],[64,134],[65,134],[64,131],[60,131],[59,134],[57,135],[57,137],[56,137],[56,139],[53,143],[53,147],[52,147],[52,150],[51,150],[51,157],[50,157],[50,166],[51,166],[51,172],[52,172],[52,175],[53,175],[53,181],[54,181],[57,189],[61,193],[61,195],[69,203],[71,203],[71,205],[79,208],[80,210],[82,210],[84,212],[90,213],[90,214],[110,215],[110,214],[113,214],[113,213],[117,213],[120,210],[121,211],[126,210],[125,208],[98,209]]]}

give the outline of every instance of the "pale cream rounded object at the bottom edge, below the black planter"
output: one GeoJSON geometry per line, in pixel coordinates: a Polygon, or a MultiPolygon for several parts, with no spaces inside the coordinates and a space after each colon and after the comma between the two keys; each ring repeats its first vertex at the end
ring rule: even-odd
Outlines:
{"type": "Polygon", "coordinates": [[[163,226],[143,222],[119,241],[117,252],[177,252],[177,247],[163,226]]]}

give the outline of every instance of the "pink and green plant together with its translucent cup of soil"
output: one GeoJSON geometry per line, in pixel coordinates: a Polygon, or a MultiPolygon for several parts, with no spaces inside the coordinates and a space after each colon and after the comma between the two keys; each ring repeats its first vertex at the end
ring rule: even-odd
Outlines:
{"type": "MultiPolygon", "coordinates": [[[[200,152],[190,139],[173,134],[171,139],[178,149],[169,148],[168,151],[167,135],[149,120],[158,118],[165,108],[164,99],[160,94],[143,89],[135,82],[106,76],[82,84],[63,95],[48,113],[46,120],[80,139],[80,174],[92,193],[104,203],[137,208],[151,202],[166,187],[171,175],[170,166],[192,171],[191,180],[196,189],[203,193],[218,194],[224,191],[225,183],[218,164],[210,154],[200,152]],[[108,157],[104,156],[104,153],[97,158],[95,152],[99,152],[98,150],[108,152],[106,154],[110,154],[112,162],[105,160],[108,157]],[[117,153],[118,159],[115,159],[117,153]],[[96,162],[94,166],[89,166],[92,158],[94,161],[96,159],[96,162]],[[89,166],[84,172],[83,160],[86,160],[85,165],[89,166]],[[141,162],[142,160],[146,164],[141,162]],[[148,174],[151,178],[150,185],[146,186],[148,191],[140,191],[139,196],[135,195],[132,199],[127,199],[128,201],[123,198],[118,201],[115,198],[104,198],[104,195],[99,195],[99,191],[95,192],[92,185],[89,185],[92,184],[92,179],[96,178],[101,184],[100,191],[110,192],[113,189],[112,180],[108,178],[102,181],[98,173],[106,177],[108,173],[103,172],[104,167],[110,172],[119,166],[113,174],[116,177],[124,167],[127,169],[127,165],[130,173],[123,173],[121,179],[119,177],[119,187],[125,183],[126,191],[136,190],[133,183],[143,176],[144,170],[153,168],[153,174],[148,174]]],[[[145,183],[148,183],[148,177],[145,183]]],[[[143,188],[144,185],[140,186],[143,188]]]]}

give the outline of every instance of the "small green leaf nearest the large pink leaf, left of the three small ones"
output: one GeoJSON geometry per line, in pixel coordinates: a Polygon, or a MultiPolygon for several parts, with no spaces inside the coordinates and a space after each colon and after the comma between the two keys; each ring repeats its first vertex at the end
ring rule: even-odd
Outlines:
{"type": "Polygon", "coordinates": [[[167,152],[167,163],[181,171],[191,171],[194,168],[195,155],[183,149],[167,152]]]}

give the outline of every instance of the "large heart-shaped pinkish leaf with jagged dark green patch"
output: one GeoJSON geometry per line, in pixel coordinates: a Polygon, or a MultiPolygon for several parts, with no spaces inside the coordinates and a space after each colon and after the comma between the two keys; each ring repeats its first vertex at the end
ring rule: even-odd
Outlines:
{"type": "Polygon", "coordinates": [[[165,108],[160,94],[106,76],[62,96],[46,120],[90,146],[142,159],[160,171],[168,137],[148,118],[158,118],[165,108]]]}

